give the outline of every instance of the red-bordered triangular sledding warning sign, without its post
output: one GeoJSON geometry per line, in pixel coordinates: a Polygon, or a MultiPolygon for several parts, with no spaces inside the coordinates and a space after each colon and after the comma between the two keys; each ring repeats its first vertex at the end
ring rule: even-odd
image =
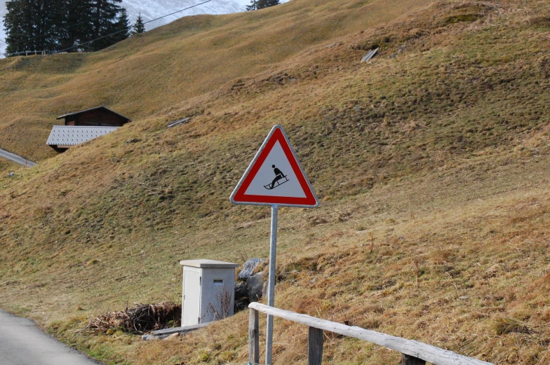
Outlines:
{"type": "Polygon", "coordinates": [[[274,126],[231,195],[235,204],[310,207],[317,197],[281,125],[274,126]]]}

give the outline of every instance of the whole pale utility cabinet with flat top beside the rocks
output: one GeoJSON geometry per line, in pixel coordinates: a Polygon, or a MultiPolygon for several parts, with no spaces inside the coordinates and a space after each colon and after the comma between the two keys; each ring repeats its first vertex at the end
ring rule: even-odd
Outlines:
{"type": "Polygon", "coordinates": [[[182,326],[213,322],[233,315],[236,263],[180,261],[183,266],[182,326]]]}

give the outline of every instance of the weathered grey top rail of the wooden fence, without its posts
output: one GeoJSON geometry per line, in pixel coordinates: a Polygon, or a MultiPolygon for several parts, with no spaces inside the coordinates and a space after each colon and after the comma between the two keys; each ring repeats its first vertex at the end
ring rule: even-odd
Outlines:
{"type": "Polygon", "coordinates": [[[466,357],[415,340],[406,340],[405,338],[390,336],[386,333],[362,329],[357,326],[346,326],[345,324],[330,322],[326,319],[319,319],[309,315],[300,315],[295,312],[269,307],[268,305],[260,303],[250,303],[248,308],[253,308],[267,315],[273,315],[275,317],[288,319],[289,321],[306,324],[316,329],[323,329],[325,331],[339,333],[343,336],[354,337],[370,343],[375,343],[391,350],[401,352],[402,354],[423,359],[435,365],[494,365],[490,362],[472,359],[471,357],[466,357]]]}

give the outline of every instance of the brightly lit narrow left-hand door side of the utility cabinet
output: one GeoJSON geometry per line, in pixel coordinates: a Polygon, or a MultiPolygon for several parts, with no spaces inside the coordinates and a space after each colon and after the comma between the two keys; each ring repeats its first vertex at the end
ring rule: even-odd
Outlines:
{"type": "Polygon", "coordinates": [[[184,267],[182,326],[201,322],[201,270],[184,267]]]}

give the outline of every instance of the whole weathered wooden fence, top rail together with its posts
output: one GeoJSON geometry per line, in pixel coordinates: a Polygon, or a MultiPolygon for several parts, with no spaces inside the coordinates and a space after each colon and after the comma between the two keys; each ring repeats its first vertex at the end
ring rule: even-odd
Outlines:
{"type": "Polygon", "coordinates": [[[357,326],[347,326],[345,324],[330,322],[326,319],[319,319],[309,315],[300,315],[295,312],[269,307],[268,305],[260,303],[250,303],[248,308],[250,308],[248,350],[251,364],[260,363],[258,312],[262,312],[266,315],[288,319],[289,321],[309,326],[307,346],[308,365],[321,365],[323,359],[323,331],[330,331],[343,336],[358,338],[401,352],[403,365],[424,365],[427,361],[434,365],[493,365],[489,362],[466,357],[415,340],[406,340],[405,338],[390,336],[385,333],[362,329],[357,326]]]}

